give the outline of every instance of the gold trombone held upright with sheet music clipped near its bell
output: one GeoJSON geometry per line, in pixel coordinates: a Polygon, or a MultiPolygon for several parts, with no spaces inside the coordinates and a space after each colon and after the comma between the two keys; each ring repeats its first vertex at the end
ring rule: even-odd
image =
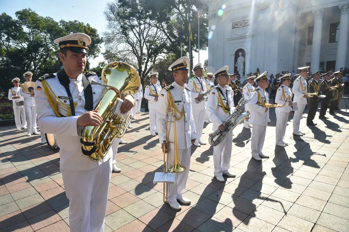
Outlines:
{"type": "MultiPolygon", "coordinates": [[[[172,107],[167,107],[166,109],[166,139],[167,141],[163,141],[164,144],[168,144],[168,148],[166,150],[166,146],[164,147],[164,173],[181,173],[186,170],[186,167],[181,166],[179,162],[178,155],[178,144],[177,144],[177,128],[176,128],[176,112],[172,107]],[[173,118],[173,119],[171,119],[173,118]],[[173,123],[173,133],[174,139],[170,141],[170,123],[173,123]],[[169,155],[170,155],[170,145],[169,143],[174,144],[174,164],[172,167],[169,167],[169,155]],[[167,155],[165,156],[165,154],[167,155]],[[166,159],[165,159],[166,157],[166,159]]],[[[164,182],[164,203],[167,201],[168,195],[168,183],[164,182]]]]}

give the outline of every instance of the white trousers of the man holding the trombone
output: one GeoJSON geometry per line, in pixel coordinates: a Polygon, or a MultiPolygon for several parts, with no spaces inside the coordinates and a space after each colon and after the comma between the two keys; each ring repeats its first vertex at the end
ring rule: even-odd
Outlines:
{"type": "MultiPolygon", "coordinates": [[[[169,167],[174,164],[174,148],[169,149],[169,167]]],[[[176,173],[176,180],[174,184],[168,184],[168,202],[175,202],[177,199],[182,199],[182,194],[185,192],[185,185],[189,175],[190,168],[190,147],[187,149],[178,149],[179,162],[186,170],[181,173],[176,173]]]]}

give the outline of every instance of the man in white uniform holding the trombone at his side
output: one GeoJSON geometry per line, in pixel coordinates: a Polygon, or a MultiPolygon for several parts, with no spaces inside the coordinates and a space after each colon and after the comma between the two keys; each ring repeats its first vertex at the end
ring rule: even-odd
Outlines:
{"type": "MultiPolygon", "coordinates": [[[[174,184],[168,185],[167,203],[172,209],[180,210],[183,204],[190,204],[191,200],[183,197],[185,186],[190,169],[191,145],[195,142],[197,135],[195,133],[195,123],[193,120],[191,92],[186,87],[189,71],[189,58],[181,57],[175,61],[169,70],[173,71],[174,82],[160,91],[158,101],[157,127],[159,130],[159,141],[162,143],[162,149],[169,151],[169,167],[174,164],[174,144],[168,143],[174,141],[173,123],[166,127],[166,109],[172,107],[175,111],[174,120],[176,122],[176,138],[179,162],[186,170],[176,174],[174,184]],[[167,129],[169,130],[169,140],[167,141],[167,129]],[[170,144],[170,145],[169,145],[170,144]]],[[[172,117],[173,118],[173,117],[172,117]]],[[[172,120],[172,119],[171,119],[172,120]]]]}

